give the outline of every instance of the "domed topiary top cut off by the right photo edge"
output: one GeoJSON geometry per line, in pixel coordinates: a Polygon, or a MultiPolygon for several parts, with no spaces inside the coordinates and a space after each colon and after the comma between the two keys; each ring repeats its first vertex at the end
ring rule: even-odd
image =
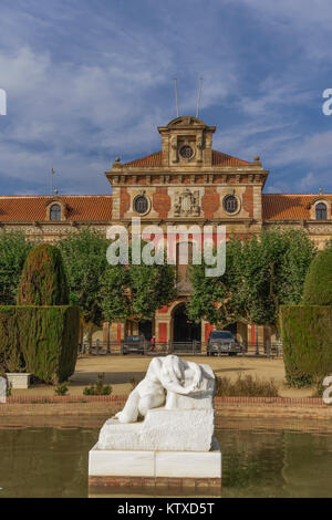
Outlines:
{"type": "Polygon", "coordinates": [[[332,249],[319,252],[310,263],[303,287],[305,305],[332,305],[332,249]]]}

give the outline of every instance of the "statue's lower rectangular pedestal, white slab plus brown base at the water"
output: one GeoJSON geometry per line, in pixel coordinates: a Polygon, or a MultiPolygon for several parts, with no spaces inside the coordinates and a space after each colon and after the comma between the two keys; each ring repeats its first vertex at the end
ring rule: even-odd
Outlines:
{"type": "Polygon", "coordinates": [[[101,449],[89,453],[90,492],[132,491],[218,495],[221,488],[221,451],[214,438],[210,451],[101,449]]]}

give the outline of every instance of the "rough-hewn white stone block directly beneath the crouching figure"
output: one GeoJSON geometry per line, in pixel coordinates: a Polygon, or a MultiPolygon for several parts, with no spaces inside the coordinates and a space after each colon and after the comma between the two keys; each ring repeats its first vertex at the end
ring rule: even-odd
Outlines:
{"type": "Polygon", "coordinates": [[[142,423],[106,420],[97,446],[114,450],[209,451],[212,435],[214,409],[155,408],[142,423]]]}

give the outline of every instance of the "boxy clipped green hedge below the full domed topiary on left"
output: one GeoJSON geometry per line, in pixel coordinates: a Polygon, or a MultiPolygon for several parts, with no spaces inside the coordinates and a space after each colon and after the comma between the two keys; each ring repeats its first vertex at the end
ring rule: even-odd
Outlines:
{"type": "Polygon", "coordinates": [[[66,381],[75,370],[79,329],[76,306],[0,306],[0,365],[45,383],[66,381]]]}

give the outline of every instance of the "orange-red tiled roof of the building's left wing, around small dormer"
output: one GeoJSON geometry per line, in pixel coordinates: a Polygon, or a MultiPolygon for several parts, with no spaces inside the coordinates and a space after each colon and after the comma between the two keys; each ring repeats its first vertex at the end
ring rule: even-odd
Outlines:
{"type": "MultiPolygon", "coordinates": [[[[46,218],[46,202],[51,196],[0,197],[0,221],[43,221],[46,218]]],[[[112,195],[61,195],[66,205],[66,220],[112,219],[112,195]]]]}

